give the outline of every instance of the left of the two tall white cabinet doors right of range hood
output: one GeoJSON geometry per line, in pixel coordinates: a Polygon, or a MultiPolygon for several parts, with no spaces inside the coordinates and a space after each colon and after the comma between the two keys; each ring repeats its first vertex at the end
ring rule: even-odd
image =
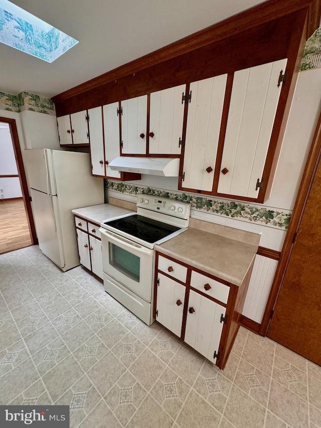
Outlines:
{"type": "Polygon", "coordinates": [[[182,189],[212,192],[226,80],[223,74],[190,85],[182,189]]]}

